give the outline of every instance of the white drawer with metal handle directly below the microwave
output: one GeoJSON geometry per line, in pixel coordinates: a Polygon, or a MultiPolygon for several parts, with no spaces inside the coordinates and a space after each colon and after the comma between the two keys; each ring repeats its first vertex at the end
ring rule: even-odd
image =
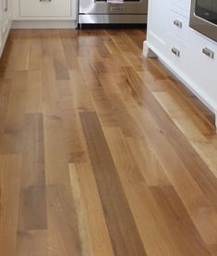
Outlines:
{"type": "Polygon", "coordinates": [[[192,31],[190,76],[204,93],[217,98],[217,45],[192,31]]]}

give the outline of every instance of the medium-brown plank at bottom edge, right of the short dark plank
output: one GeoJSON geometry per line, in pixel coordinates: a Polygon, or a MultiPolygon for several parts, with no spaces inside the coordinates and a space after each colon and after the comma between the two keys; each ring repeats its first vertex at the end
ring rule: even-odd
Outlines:
{"type": "Polygon", "coordinates": [[[47,186],[49,256],[82,255],[70,186],[47,186]]]}

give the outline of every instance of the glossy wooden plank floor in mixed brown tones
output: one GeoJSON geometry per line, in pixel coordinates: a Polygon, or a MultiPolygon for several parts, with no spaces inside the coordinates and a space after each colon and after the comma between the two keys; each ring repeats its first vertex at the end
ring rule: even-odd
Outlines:
{"type": "Polygon", "coordinates": [[[217,135],[145,32],[13,31],[1,256],[217,255],[217,135]]]}

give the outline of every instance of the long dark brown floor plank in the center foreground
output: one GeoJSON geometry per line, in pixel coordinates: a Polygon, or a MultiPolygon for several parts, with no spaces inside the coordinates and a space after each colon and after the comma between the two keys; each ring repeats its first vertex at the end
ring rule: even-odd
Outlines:
{"type": "Polygon", "coordinates": [[[146,255],[101,124],[94,112],[81,112],[80,119],[115,253],[146,255]]]}

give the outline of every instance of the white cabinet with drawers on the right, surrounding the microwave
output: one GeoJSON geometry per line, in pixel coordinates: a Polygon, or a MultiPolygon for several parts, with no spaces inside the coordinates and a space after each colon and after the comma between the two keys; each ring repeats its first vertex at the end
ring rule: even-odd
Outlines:
{"type": "Polygon", "coordinates": [[[217,42],[189,27],[190,0],[150,0],[146,56],[157,56],[216,115],[217,42]]]}

